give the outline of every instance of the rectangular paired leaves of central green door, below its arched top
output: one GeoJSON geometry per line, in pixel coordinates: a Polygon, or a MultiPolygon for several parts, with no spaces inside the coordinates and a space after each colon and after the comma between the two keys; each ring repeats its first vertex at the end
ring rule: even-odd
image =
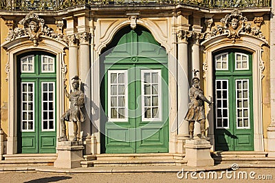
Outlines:
{"type": "MultiPolygon", "coordinates": [[[[167,86],[167,80],[162,80],[167,71],[162,64],[159,66],[144,65],[113,65],[107,71],[108,78],[107,93],[109,96],[105,106],[105,113],[108,114],[109,121],[105,124],[106,134],[106,152],[107,153],[145,153],[145,152],[167,152],[168,151],[168,112],[162,110],[164,104],[168,104],[168,99],[158,99],[167,94],[168,88],[161,88],[161,85],[167,86]],[[128,70],[118,70],[128,69],[128,70]],[[153,70],[148,70],[153,69],[153,70]],[[118,85],[114,84],[111,75],[119,76],[124,73],[128,81],[126,83],[127,96],[118,95],[118,85]],[[146,82],[142,74],[149,75],[151,82],[146,82]],[[157,74],[159,81],[153,81],[153,75],[157,74]],[[151,75],[151,77],[150,77],[151,75]],[[146,84],[144,84],[146,82],[146,84]],[[142,84],[143,83],[143,84],[142,84]],[[158,86],[159,85],[159,86],[158,86]],[[117,93],[113,93],[113,86],[117,86],[117,93]],[[154,88],[155,87],[155,88],[154,88]],[[157,88],[157,89],[156,89],[157,88]],[[159,91],[157,91],[159,90],[159,91]],[[162,95],[159,95],[162,93],[162,95]],[[127,111],[121,115],[120,119],[120,102],[119,97],[124,97],[128,106],[127,111]],[[112,99],[113,98],[113,99],[112,99]],[[115,100],[117,98],[117,101],[115,100]],[[150,100],[147,102],[146,100],[150,100]],[[157,101],[156,101],[157,99],[157,101]],[[119,106],[119,107],[117,107],[119,106]],[[116,109],[115,115],[113,108],[116,109]],[[157,110],[159,109],[159,112],[157,110]],[[115,117],[115,118],[113,118],[115,117]]],[[[118,79],[119,80],[119,79],[118,79]]],[[[167,95],[166,95],[167,96],[167,95]]],[[[122,105],[123,106],[123,105],[122,105]]]]}

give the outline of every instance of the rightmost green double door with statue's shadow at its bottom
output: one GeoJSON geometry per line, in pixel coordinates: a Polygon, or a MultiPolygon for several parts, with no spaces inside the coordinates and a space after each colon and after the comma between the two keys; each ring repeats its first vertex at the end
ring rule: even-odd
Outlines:
{"type": "Polygon", "coordinates": [[[215,150],[253,151],[252,55],[232,49],[214,63],[215,150]]]}

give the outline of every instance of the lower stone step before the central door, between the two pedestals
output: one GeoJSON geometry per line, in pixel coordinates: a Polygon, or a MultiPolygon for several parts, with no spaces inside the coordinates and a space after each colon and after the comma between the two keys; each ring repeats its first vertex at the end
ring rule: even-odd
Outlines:
{"type": "Polygon", "coordinates": [[[186,165],[186,160],[91,160],[80,162],[82,167],[133,167],[186,165]]]}

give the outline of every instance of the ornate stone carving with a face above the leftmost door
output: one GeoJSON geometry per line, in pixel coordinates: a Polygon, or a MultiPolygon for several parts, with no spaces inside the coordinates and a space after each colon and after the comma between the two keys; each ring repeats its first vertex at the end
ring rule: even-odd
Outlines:
{"type": "Polygon", "coordinates": [[[45,25],[44,19],[40,19],[38,15],[30,12],[25,16],[25,19],[19,21],[23,28],[16,27],[10,29],[8,37],[5,40],[11,41],[21,36],[29,36],[30,40],[34,42],[34,47],[37,47],[39,42],[42,40],[41,36],[47,36],[50,38],[57,38],[62,40],[62,34],[54,33],[54,30],[45,25]]]}

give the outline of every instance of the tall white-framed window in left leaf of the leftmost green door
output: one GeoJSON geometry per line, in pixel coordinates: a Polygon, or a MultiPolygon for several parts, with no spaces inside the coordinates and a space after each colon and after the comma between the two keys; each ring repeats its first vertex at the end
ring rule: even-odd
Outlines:
{"type": "MultiPolygon", "coordinates": [[[[28,88],[28,87],[27,87],[28,88]]],[[[34,110],[35,110],[35,91],[34,91],[34,88],[35,88],[35,83],[34,82],[21,82],[21,132],[34,132],[35,131],[35,123],[34,123],[34,121],[35,121],[35,112],[34,112],[34,110]],[[23,84],[33,84],[33,88],[32,88],[32,93],[33,93],[33,101],[32,101],[32,103],[33,103],[33,110],[32,110],[32,126],[33,126],[33,129],[32,130],[25,130],[25,129],[23,129],[23,116],[22,116],[22,114],[23,114],[23,97],[22,97],[22,94],[23,94],[23,84]]],[[[28,95],[27,95],[27,97],[28,97],[28,95]]],[[[28,112],[29,111],[31,111],[31,110],[27,110],[26,112],[27,112],[27,114],[28,114],[28,112]]],[[[27,128],[29,128],[29,124],[28,124],[29,122],[27,121],[27,128]]]]}

